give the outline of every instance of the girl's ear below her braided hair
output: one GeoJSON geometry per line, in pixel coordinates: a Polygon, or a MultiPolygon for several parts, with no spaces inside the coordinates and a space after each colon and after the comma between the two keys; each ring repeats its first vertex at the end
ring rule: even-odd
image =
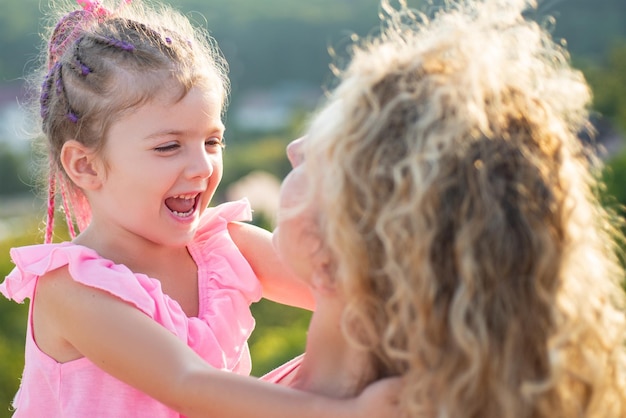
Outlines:
{"type": "Polygon", "coordinates": [[[102,185],[102,167],[96,153],[76,140],[61,148],[61,164],[72,182],[83,190],[95,190],[102,185]]]}

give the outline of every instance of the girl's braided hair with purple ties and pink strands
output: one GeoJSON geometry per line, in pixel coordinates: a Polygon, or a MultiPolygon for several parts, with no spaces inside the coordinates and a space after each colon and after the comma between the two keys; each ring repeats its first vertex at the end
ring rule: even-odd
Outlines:
{"type": "MultiPolygon", "coordinates": [[[[59,160],[67,140],[99,150],[111,123],[143,103],[182,99],[192,87],[220,89],[225,103],[229,88],[212,39],[180,13],[141,1],[81,3],[70,12],[76,4],[67,3],[52,18],[38,103],[50,176],[75,197],[59,160]]],[[[51,189],[53,198],[54,182],[51,189]]]]}

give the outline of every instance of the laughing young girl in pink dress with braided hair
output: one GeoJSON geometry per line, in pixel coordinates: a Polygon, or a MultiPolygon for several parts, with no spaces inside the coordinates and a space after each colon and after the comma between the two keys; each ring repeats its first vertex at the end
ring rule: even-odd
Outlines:
{"type": "Polygon", "coordinates": [[[250,370],[257,276],[264,296],[300,290],[277,290],[287,275],[269,233],[231,223],[249,218],[246,202],[207,209],[222,176],[225,64],[172,10],[82,3],[50,37],[41,87],[46,244],[12,250],[0,286],[31,299],[14,416],[393,413],[392,383],[338,401],[238,375],[250,370]],[[51,244],[57,192],[80,234],[51,244]]]}

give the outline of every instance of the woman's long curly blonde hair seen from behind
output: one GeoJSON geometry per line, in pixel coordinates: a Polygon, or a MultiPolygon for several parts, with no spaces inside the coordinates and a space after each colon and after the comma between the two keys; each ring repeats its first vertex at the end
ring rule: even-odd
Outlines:
{"type": "Polygon", "coordinates": [[[578,139],[591,93],[528,6],[383,2],[308,131],[344,328],[406,376],[407,416],[626,416],[619,233],[578,139]]]}

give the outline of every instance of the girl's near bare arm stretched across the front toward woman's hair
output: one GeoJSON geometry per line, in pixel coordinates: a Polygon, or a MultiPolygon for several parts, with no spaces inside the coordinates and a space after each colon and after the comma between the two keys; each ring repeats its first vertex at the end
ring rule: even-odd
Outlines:
{"type": "Polygon", "coordinates": [[[44,351],[46,346],[76,350],[189,417],[393,416],[396,381],[338,400],[219,371],[141,311],[72,280],[67,267],[42,277],[34,300],[35,319],[45,318],[39,323],[45,325],[45,338],[38,341],[44,351]]]}

